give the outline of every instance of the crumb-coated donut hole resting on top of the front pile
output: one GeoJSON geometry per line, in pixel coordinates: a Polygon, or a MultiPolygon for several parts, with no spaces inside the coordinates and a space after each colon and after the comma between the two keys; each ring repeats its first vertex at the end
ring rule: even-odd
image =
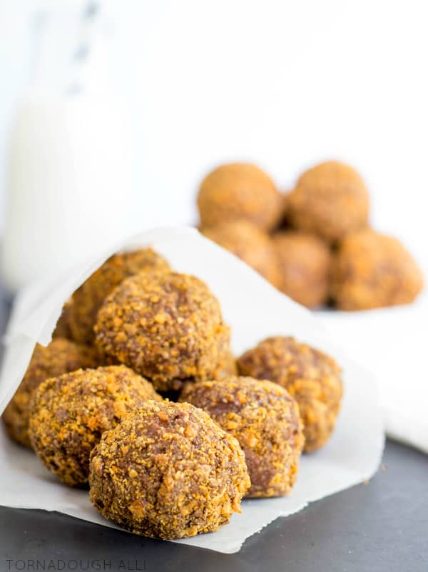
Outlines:
{"type": "Polygon", "coordinates": [[[189,378],[211,378],[230,338],[208,286],[175,272],[123,281],[101,306],[95,332],[102,353],[159,391],[179,389],[189,378]]]}

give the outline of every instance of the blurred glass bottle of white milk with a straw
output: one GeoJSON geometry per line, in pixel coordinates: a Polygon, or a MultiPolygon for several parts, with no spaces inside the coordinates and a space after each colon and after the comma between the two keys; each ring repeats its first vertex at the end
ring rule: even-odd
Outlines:
{"type": "Polygon", "coordinates": [[[9,139],[2,274],[11,292],[127,234],[124,110],[108,81],[99,6],[78,4],[39,14],[36,79],[9,139]]]}

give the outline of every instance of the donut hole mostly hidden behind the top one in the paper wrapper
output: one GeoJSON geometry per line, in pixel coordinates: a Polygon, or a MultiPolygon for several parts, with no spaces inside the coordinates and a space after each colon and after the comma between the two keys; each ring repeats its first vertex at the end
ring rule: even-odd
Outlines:
{"type": "Polygon", "coordinates": [[[167,261],[152,249],[113,254],[73,293],[68,324],[73,340],[93,343],[93,326],[101,304],[118,284],[141,271],[169,271],[167,261]]]}

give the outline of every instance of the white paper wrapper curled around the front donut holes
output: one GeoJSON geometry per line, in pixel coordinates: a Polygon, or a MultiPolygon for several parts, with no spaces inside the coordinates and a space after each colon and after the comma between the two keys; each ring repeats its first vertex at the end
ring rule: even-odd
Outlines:
{"type": "MultiPolygon", "coordinates": [[[[279,516],[300,511],[316,501],[370,478],[377,470],[384,436],[372,377],[332,343],[305,308],[283,296],[252,269],[204,239],[194,229],[157,229],[113,245],[99,259],[66,276],[51,276],[21,293],[7,331],[0,380],[0,411],[13,395],[28,365],[34,343],[49,343],[63,302],[103,261],[120,249],[153,246],[174,269],[205,280],[220,299],[232,328],[237,355],[267,336],[292,335],[335,356],[344,370],[345,396],[340,418],[322,450],[302,457],[297,484],[285,498],[243,502],[227,526],[181,543],[233,553],[245,538],[279,516]]],[[[346,343],[346,340],[342,340],[346,343]]],[[[0,435],[0,504],[48,511],[113,526],[100,516],[88,493],[58,483],[30,451],[0,435]]],[[[351,518],[351,516],[350,516],[351,518]]]]}

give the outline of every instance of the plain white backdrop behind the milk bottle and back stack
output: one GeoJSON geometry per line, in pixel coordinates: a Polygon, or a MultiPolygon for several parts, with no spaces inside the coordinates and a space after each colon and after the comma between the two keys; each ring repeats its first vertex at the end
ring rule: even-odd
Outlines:
{"type": "MultiPolygon", "coordinates": [[[[0,0],[1,195],[36,6],[0,0]]],[[[337,158],[365,176],[374,224],[428,268],[426,1],[121,0],[106,16],[139,226],[195,221],[198,181],[220,161],[255,161],[289,189],[337,158]]]]}

